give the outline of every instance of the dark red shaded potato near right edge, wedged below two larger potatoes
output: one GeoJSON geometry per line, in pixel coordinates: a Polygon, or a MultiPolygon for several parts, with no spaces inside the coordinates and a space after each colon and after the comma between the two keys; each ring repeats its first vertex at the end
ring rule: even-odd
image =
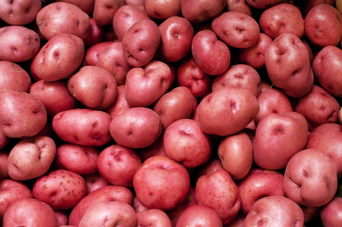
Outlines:
{"type": "Polygon", "coordinates": [[[307,94],[296,99],[293,110],[305,117],[308,130],[313,131],[319,125],[337,123],[340,104],[323,88],[314,85],[307,94]]]}

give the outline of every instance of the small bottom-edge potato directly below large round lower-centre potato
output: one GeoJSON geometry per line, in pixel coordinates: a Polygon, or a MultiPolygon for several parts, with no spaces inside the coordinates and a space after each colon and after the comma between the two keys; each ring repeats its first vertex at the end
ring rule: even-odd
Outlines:
{"type": "Polygon", "coordinates": [[[171,227],[171,221],[165,211],[161,209],[149,209],[136,213],[138,226],[171,227]]]}

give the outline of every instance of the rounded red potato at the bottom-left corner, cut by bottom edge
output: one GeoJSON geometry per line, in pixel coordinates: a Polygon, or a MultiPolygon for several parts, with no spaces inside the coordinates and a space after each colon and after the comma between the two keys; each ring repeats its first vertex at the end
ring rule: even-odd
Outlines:
{"type": "Polygon", "coordinates": [[[53,209],[37,199],[17,199],[11,203],[6,211],[2,220],[2,227],[58,227],[57,217],[53,209]]]}

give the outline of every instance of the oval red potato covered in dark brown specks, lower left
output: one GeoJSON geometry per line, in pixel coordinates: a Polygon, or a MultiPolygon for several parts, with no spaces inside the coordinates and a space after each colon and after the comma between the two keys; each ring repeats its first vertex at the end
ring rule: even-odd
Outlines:
{"type": "Polygon", "coordinates": [[[53,209],[71,209],[86,195],[85,179],[68,170],[50,170],[36,179],[32,194],[53,209]]]}

